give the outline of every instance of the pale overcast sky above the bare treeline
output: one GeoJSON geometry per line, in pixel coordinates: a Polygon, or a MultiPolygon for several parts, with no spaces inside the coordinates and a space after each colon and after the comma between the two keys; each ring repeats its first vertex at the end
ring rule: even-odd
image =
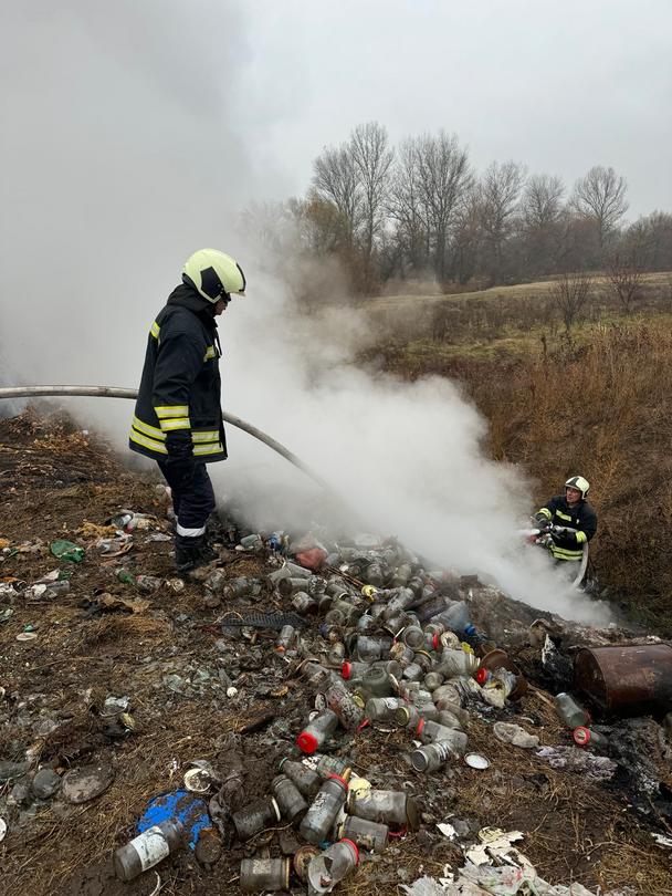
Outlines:
{"type": "Polygon", "coordinates": [[[573,184],[612,165],[631,215],[672,209],[669,0],[244,2],[248,134],[283,189],[359,122],[445,128],[479,168],[513,158],[573,184]]]}

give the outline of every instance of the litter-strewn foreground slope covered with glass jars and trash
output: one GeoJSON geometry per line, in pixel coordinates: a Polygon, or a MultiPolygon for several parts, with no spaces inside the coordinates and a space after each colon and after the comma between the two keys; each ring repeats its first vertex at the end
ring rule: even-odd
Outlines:
{"type": "Polygon", "coordinates": [[[366,533],[180,579],[143,488],[0,531],[8,896],[672,892],[672,647],[366,533]]]}

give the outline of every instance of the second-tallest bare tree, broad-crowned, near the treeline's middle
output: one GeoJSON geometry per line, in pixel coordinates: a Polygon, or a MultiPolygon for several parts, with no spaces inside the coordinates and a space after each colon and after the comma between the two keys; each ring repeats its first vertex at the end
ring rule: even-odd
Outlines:
{"type": "Polygon", "coordinates": [[[420,200],[429,223],[434,273],[440,282],[448,269],[448,243],[459,204],[472,183],[466,149],[443,131],[416,143],[420,200]]]}

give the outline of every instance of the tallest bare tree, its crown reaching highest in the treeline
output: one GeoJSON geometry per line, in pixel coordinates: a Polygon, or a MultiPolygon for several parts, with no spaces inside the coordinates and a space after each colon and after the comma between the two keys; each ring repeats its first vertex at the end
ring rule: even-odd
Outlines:
{"type": "Polygon", "coordinates": [[[363,250],[369,264],[374,240],[384,221],[393,152],[388,147],[385,127],[368,122],[353,131],[349,153],[361,195],[363,250]]]}

